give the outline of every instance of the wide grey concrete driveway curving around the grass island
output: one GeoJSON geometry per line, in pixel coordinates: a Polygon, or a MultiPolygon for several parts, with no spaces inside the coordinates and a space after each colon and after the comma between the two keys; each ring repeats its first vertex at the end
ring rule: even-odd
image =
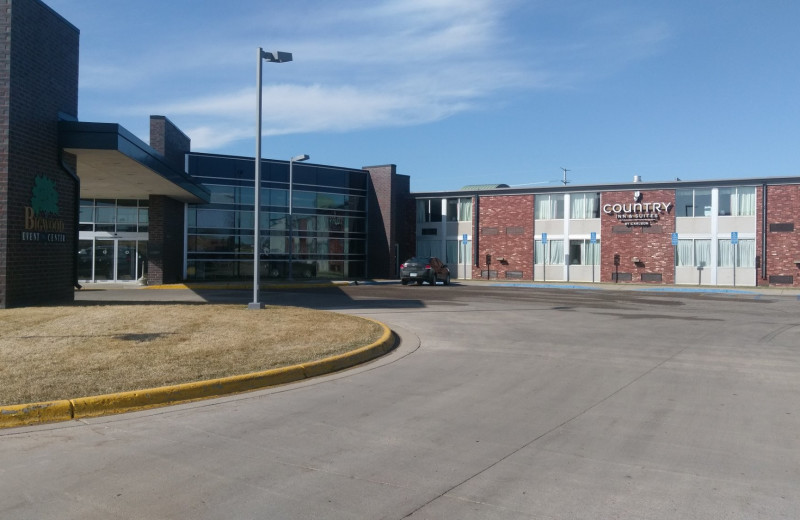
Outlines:
{"type": "Polygon", "coordinates": [[[0,518],[800,517],[796,296],[398,284],[265,301],[369,316],[402,344],[305,383],[2,431],[0,518]]]}

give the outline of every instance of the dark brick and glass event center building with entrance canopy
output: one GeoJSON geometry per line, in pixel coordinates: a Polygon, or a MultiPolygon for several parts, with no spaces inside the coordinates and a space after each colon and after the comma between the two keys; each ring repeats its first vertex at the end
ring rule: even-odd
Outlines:
{"type": "Polygon", "coordinates": [[[78,29],[41,0],[2,4],[0,308],[71,301],[85,282],[252,280],[256,248],[262,277],[397,275],[414,231],[394,165],[303,163],[293,181],[262,159],[255,212],[253,158],[193,153],[164,116],[149,144],[79,121],[78,29]]]}

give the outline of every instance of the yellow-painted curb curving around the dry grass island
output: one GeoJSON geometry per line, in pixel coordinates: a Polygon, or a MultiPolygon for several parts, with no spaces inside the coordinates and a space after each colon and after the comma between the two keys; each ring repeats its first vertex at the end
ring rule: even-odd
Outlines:
{"type": "Polygon", "coordinates": [[[0,428],[69,421],[144,410],[186,401],[258,390],[344,370],[380,357],[395,347],[397,338],[389,327],[376,320],[363,319],[380,325],[383,328],[381,337],[370,345],[338,356],[208,381],[77,399],[0,406],[0,428]]]}

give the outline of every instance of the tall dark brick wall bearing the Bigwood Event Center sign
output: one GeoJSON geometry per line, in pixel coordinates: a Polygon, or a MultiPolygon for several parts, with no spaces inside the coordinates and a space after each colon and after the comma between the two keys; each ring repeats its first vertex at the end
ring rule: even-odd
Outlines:
{"type": "Polygon", "coordinates": [[[38,0],[0,0],[0,32],[0,307],[71,301],[77,188],[58,119],[78,113],[79,31],[38,0]],[[22,239],[37,176],[56,186],[64,242],[22,239]]]}

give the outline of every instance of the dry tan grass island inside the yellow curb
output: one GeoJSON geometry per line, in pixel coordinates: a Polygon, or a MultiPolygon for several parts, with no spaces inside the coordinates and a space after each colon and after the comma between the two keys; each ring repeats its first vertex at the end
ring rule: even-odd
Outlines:
{"type": "Polygon", "coordinates": [[[374,322],[300,307],[70,305],[0,310],[0,405],[259,372],[348,352],[374,322]]]}

